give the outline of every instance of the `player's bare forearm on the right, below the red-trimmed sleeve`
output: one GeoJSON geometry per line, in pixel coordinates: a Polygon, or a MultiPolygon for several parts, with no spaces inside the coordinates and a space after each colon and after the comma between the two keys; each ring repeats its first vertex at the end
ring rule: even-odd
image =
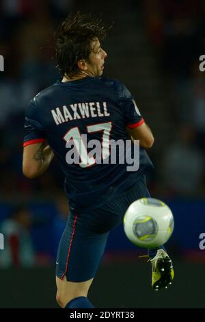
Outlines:
{"type": "Polygon", "coordinates": [[[154,136],[150,127],[146,123],[143,123],[139,127],[128,129],[126,127],[127,134],[132,140],[139,140],[139,145],[145,149],[150,149],[154,144],[154,136]]]}

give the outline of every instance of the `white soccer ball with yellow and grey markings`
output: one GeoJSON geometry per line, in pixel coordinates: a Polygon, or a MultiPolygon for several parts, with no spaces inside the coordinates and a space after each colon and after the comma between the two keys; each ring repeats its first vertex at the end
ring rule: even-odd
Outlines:
{"type": "Polygon", "coordinates": [[[163,201],[141,198],[124,215],[124,232],[139,247],[155,248],[167,242],[174,230],[174,217],[163,201]]]}

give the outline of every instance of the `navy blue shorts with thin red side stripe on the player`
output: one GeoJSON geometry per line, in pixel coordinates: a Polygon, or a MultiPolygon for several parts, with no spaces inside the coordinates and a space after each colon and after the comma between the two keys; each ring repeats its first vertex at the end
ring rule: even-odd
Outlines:
{"type": "Polygon", "coordinates": [[[110,230],[122,223],[133,201],[150,197],[146,177],[142,176],[120,197],[101,208],[68,216],[57,253],[56,275],[70,282],[90,280],[98,269],[110,230]]]}

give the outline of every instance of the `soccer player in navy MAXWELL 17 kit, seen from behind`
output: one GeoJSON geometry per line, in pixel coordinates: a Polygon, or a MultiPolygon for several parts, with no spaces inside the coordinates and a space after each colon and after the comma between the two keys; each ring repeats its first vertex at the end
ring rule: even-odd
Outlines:
{"type": "MultiPolygon", "coordinates": [[[[154,138],[126,87],[101,77],[107,53],[100,42],[106,32],[102,22],[91,15],[69,15],[61,23],[55,41],[62,79],[31,100],[25,118],[25,176],[44,173],[53,156],[65,174],[70,215],[56,262],[57,302],[62,308],[94,308],[87,293],[110,230],[122,223],[133,201],[150,197],[145,173],[152,162],[146,149],[152,147],[154,138]],[[111,140],[125,142],[128,138],[140,144],[136,171],[127,171],[126,162],[110,162],[111,140]],[[108,162],[100,163],[90,154],[92,140],[101,143],[102,159],[108,162]],[[69,151],[79,153],[79,162],[70,162],[69,151]]],[[[152,287],[167,287],[174,271],[165,248],[150,249],[148,256],[152,287]]]]}

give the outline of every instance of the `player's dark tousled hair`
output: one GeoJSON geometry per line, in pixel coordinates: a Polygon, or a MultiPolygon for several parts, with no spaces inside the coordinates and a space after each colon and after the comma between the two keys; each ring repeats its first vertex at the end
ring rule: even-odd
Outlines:
{"type": "Polygon", "coordinates": [[[82,59],[89,62],[92,41],[105,39],[111,26],[105,27],[102,19],[94,18],[92,14],[69,14],[55,32],[57,68],[61,75],[70,78],[80,75],[77,62],[82,59]]]}

